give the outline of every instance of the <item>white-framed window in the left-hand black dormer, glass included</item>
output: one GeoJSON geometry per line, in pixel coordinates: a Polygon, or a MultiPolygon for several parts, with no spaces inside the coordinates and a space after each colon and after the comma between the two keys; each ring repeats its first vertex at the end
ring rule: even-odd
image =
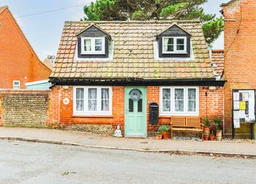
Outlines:
{"type": "Polygon", "coordinates": [[[81,38],[82,54],[104,54],[105,38],[103,37],[84,37],[81,38]]]}

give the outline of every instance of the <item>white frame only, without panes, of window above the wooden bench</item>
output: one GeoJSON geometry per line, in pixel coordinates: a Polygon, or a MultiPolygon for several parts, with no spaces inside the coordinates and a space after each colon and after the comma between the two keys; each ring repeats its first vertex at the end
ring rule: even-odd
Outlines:
{"type": "Polygon", "coordinates": [[[199,87],[191,86],[191,87],[160,87],[160,99],[159,99],[159,115],[199,115],[199,87]],[[163,89],[170,89],[171,90],[171,110],[170,111],[163,111],[163,89]],[[175,89],[184,89],[184,111],[177,112],[175,111],[175,100],[174,100],[174,91],[175,89]],[[188,111],[188,89],[196,89],[196,110],[195,112],[188,111]]]}

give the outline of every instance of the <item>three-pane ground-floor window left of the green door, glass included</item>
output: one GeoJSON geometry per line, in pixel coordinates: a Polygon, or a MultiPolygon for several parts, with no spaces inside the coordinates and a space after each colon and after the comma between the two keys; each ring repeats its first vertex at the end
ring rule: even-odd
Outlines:
{"type": "Polygon", "coordinates": [[[74,115],[111,115],[112,87],[74,87],[74,115]]]}

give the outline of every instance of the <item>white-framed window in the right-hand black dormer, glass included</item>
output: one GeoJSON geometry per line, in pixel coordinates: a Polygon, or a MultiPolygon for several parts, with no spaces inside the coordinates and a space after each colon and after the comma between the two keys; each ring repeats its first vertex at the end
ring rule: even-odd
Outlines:
{"type": "Polygon", "coordinates": [[[163,53],[187,53],[187,37],[163,37],[163,53]]]}

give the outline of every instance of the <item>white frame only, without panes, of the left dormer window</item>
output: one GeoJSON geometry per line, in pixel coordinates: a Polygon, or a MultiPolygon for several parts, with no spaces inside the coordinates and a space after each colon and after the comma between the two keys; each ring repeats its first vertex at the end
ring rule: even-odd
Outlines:
{"type": "Polygon", "coordinates": [[[104,37],[82,37],[81,38],[81,53],[82,54],[104,54],[105,53],[105,38],[104,37]],[[91,51],[85,51],[85,40],[90,39],[91,51]],[[95,51],[95,40],[102,40],[102,51],[95,51]]]}

